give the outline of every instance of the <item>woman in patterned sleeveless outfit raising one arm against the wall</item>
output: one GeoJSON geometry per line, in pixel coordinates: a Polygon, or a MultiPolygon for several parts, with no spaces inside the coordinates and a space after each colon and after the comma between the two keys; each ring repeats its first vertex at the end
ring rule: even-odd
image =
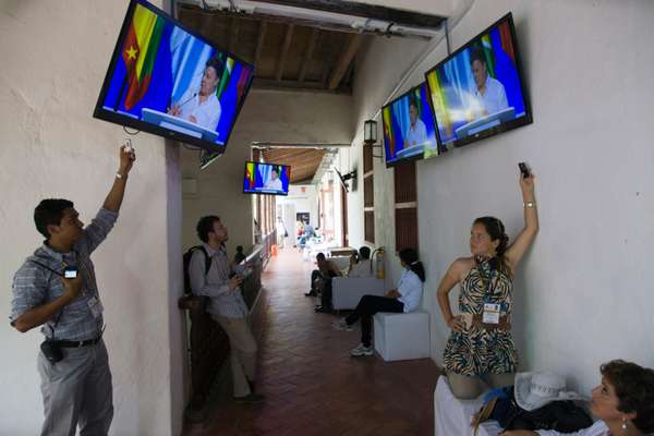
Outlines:
{"type": "Polygon", "coordinates": [[[477,397],[486,382],[493,387],[512,385],[518,353],[511,337],[513,272],[538,231],[534,177],[520,175],[524,228],[509,245],[501,221],[477,218],[470,231],[472,256],[456,259],[437,290],[438,305],[452,329],[444,365],[452,393],[477,397]],[[449,292],[460,284],[459,314],[452,315],[449,292]]]}

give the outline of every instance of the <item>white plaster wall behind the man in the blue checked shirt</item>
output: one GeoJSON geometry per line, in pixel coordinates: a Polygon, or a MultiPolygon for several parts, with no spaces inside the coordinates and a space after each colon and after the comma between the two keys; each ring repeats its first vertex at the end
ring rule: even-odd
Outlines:
{"type": "MultiPolygon", "coordinates": [[[[38,329],[9,326],[11,282],[41,243],[32,214],[45,197],[69,197],[88,222],[113,182],[118,125],[92,118],[126,1],[0,3],[0,434],[34,435],[43,419],[38,329]]],[[[94,253],[113,373],[112,435],[172,435],[182,425],[183,336],[177,145],[134,138],[116,228],[94,253]],[[172,267],[171,267],[172,266],[172,267]]]]}

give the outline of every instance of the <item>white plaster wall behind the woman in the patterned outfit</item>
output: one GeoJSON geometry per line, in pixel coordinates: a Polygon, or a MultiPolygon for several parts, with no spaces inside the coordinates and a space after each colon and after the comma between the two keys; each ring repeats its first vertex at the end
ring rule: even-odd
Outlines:
{"type": "MultiPolygon", "coordinates": [[[[652,366],[654,361],[647,347],[654,296],[646,276],[654,242],[654,90],[644,85],[654,66],[654,3],[475,1],[452,31],[452,48],[508,11],[516,20],[534,123],[417,164],[432,356],[441,362],[449,335],[435,299],[438,281],[457,256],[469,253],[475,217],[500,217],[511,238],[520,230],[517,162],[526,160],[537,174],[541,232],[516,279],[513,331],[521,370],[557,371],[588,391],[602,362],[622,358],[652,366]]],[[[422,73],[444,59],[444,46],[405,87],[422,82],[422,73]]],[[[359,76],[358,83],[375,74],[359,76]]],[[[397,75],[386,76],[386,86],[367,92],[392,89],[397,75]]],[[[379,160],[376,208],[378,194],[392,196],[392,182],[377,186],[377,173],[389,178],[379,160]]],[[[359,221],[353,211],[363,201],[351,198],[350,216],[359,221]]],[[[352,229],[356,225],[350,221],[352,229]]],[[[390,234],[384,238],[391,241],[390,234]]],[[[452,302],[456,298],[453,291],[452,302]]]]}

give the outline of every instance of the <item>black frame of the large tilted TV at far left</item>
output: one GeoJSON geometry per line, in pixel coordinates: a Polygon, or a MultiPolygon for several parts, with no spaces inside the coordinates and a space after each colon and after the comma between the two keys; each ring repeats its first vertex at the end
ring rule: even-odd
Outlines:
{"type": "Polygon", "coordinates": [[[159,8],[148,3],[147,1],[130,0],[130,5],[128,7],[128,12],[125,13],[123,24],[120,28],[120,34],[118,36],[118,40],[116,41],[116,47],[113,48],[113,53],[111,55],[111,58],[109,61],[109,66],[107,68],[107,74],[105,75],[105,81],[102,82],[102,87],[100,89],[100,95],[98,96],[98,100],[96,102],[96,106],[95,106],[95,109],[93,112],[93,117],[97,118],[99,120],[109,121],[109,122],[112,122],[112,123],[116,123],[119,125],[136,129],[142,132],[153,133],[155,135],[158,135],[158,136],[161,136],[165,138],[194,145],[194,146],[201,147],[201,148],[206,149],[207,152],[210,152],[214,154],[216,154],[216,153],[223,154],[225,150],[227,149],[227,146],[229,144],[229,138],[231,137],[231,134],[232,134],[234,126],[237,124],[237,121],[239,119],[239,114],[241,113],[241,109],[243,108],[243,106],[245,104],[245,99],[247,98],[247,94],[250,93],[250,87],[252,86],[253,78],[254,78],[254,65],[253,64],[243,61],[241,58],[233,55],[231,51],[223,49],[222,47],[216,45],[215,43],[208,41],[206,38],[202,37],[197,32],[194,32],[194,31],[190,29],[189,27],[184,26],[182,23],[180,23],[173,16],[171,16],[167,12],[160,10],[159,8]],[[113,71],[116,69],[116,62],[118,61],[118,59],[120,57],[122,45],[128,35],[128,31],[130,28],[130,21],[128,19],[133,16],[134,9],[136,9],[136,4],[141,4],[142,7],[153,11],[154,13],[162,15],[166,20],[169,20],[171,23],[173,23],[175,26],[179,26],[184,32],[187,32],[189,34],[193,35],[194,37],[201,39],[203,43],[214,47],[217,50],[222,51],[230,58],[233,58],[238,62],[241,62],[242,64],[250,66],[252,69],[252,75],[250,76],[250,81],[249,81],[247,85],[245,86],[245,90],[243,93],[243,101],[237,108],[232,129],[230,130],[229,135],[225,138],[223,145],[218,145],[215,143],[207,143],[206,141],[199,140],[197,137],[190,136],[190,135],[186,135],[186,134],[183,134],[180,132],[171,131],[168,129],[159,128],[158,125],[154,125],[148,122],[133,119],[133,118],[122,116],[122,114],[119,114],[116,112],[107,111],[106,109],[102,108],[102,102],[105,101],[105,97],[107,95],[107,92],[109,90],[109,84],[111,83],[111,76],[113,75],[113,71]]]}

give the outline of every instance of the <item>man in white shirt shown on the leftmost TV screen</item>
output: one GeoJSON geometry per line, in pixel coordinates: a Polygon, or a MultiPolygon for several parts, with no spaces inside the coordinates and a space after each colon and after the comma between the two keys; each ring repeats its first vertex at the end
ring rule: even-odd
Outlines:
{"type": "Polygon", "coordinates": [[[216,90],[223,72],[225,63],[220,59],[209,59],[202,76],[199,90],[186,90],[182,98],[172,105],[168,113],[215,131],[222,112],[216,90]]]}

